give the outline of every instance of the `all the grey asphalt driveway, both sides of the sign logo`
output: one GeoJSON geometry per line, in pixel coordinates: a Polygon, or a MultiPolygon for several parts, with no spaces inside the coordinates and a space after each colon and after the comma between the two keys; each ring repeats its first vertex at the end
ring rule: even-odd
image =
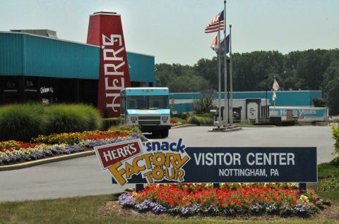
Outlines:
{"type": "MultiPolygon", "coordinates": [[[[182,137],[186,147],[317,147],[318,163],[333,158],[334,140],[327,126],[245,127],[237,132],[208,132],[210,128],[172,129],[167,141],[182,137]]],[[[111,184],[109,172],[101,170],[95,156],[0,171],[0,201],[110,194],[121,190],[111,184]]]]}

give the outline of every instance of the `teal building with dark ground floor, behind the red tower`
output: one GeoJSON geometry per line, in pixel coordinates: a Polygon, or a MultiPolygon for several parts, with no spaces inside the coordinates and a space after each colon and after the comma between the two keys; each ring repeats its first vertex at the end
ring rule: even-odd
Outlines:
{"type": "MultiPolygon", "coordinates": [[[[155,86],[155,57],[127,52],[131,87],[155,86]]],[[[0,32],[0,104],[39,101],[97,106],[100,46],[52,30],[0,32]]]]}

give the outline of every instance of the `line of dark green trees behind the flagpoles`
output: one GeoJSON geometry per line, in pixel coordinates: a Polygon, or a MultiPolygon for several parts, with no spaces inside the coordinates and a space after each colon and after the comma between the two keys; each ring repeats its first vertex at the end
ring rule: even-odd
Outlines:
{"type": "MultiPolygon", "coordinates": [[[[159,63],[156,68],[157,86],[169,87],[170,92],[218,89],[217,57],[201,58],[194,66],[159,63]]],[[[274,79],[283,90],[322,90],[330,113],[339,114],[339,49],[235,53],[232,73],[234,91],[265,91],[272,88],[274,79]]],[[[222,89],[223,83],[222,79],[222,89]]]]}

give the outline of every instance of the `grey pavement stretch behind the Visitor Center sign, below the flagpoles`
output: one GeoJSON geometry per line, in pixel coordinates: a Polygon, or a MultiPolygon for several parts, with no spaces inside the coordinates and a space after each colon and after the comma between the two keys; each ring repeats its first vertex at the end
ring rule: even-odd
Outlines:
{"type": "MultiPolygon", "coordinates": [[[[211,127],[183,127],[169,131],[169,141],[184,138],[190,147],[317,147],[318,163],[334,156],[328,126],[243,127],[235,132],[208,132],[211,127]]],[[[160,139],[159,139],[160,140],[160,139]]]]}

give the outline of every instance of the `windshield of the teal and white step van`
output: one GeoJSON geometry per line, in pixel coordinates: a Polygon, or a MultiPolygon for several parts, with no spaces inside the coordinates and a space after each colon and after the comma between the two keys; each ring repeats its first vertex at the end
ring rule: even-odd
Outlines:
{"type": "Polygon", "coordinates": [[[127,97],[127,108],[136,110],[168,109],[168,96],[129,96],[127,97]]]}

